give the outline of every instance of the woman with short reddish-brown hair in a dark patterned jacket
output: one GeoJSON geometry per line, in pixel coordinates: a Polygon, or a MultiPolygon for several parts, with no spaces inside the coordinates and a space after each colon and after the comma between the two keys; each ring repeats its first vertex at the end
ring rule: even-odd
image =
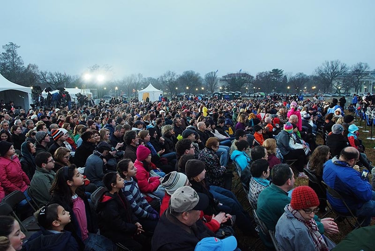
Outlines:
{"type": "Polygon", "coordinates": [[[205,148],[199,153],[198,159],[205,165],[207,171],[206,180],[208,183],[230,190],[232,187],[232,176],[225,175],[226,168],[220,165],[219,157],[216,155],[217,149],[219,149],[219,140],[215,137],[208,138],[205,148]]]}

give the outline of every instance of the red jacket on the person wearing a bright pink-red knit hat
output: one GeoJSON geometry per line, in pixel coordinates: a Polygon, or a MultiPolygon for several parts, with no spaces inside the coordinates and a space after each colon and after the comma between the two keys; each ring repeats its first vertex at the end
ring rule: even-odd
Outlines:
{"type": "MultiPolygon", "coordinates": [[[[151,166],[154,166],[154,164],[150,164],[151,166]]],[[[139,191],[142,193],[151,193],[156,191],[157,187],[160,186],[159,177],[150,177],[150,172],[148,172],[143,167],[143,163],[137,159],[134,162],[134,166],[137,168],[137,174],[135,177],[138,180],[139,191]]]]}

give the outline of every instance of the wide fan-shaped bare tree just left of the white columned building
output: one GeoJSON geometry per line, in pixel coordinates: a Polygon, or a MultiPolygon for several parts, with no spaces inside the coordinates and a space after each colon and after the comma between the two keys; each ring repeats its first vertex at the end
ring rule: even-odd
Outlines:
{"type": "Polygon", "coordinates": [[[342,77],[347,71],[347,65],[341,63],[340,60],[325,61],[320,67],[315,69],[321,82],[321,88],[325,92],[331,91],[333,82],[342,77]]]}

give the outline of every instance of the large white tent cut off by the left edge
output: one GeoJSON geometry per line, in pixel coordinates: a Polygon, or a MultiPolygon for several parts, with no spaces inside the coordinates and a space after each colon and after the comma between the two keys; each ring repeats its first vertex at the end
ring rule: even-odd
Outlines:
{"type": "Polygon", "coordinates": [[[13,101],[14,106],[28,110],[33,103],[31,88],[10,82],[0,74],[0,100],[4,100],[5,103],[13,101]]]}

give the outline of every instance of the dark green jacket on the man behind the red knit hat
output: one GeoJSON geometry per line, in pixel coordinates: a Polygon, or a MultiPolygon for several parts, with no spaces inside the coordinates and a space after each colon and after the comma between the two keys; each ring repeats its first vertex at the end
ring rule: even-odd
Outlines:
{"type": "MultiPolygon", "coordinates": [[[[278,223],[279,218],[285,212],[284,208],[289,204],[291,198],[288,197],[288,193],[284,192],[280,187],[275,184],[266,187],[258,197],[257,203],[257,215],[261,221],[266,224],[266,227],[269,230],[275,231],[276,224],[278,223]]],[[[317,218],[318,219],[318,218],[317,218]]],[[[317,221],[319,232],[324,233],[323,224],[317,221]]],[[[264,236],[260,232],[261,240],[267,248],[273,249],[273,244],[270,238],[264,236]]]]}

